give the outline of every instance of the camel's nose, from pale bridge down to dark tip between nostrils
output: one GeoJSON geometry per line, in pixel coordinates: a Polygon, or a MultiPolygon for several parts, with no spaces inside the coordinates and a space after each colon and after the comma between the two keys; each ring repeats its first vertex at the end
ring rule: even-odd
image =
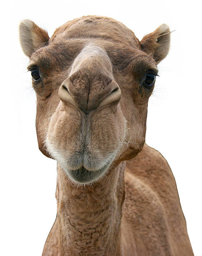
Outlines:
{"type": "Polygon", "coordinates": [[[96,46],[83,49],[75,59],[69,77],[61,86],[67,89],[66,93],[73,97],[84,112],[97,108],[118,87],[113,79],[109,57],[96,46]]]}

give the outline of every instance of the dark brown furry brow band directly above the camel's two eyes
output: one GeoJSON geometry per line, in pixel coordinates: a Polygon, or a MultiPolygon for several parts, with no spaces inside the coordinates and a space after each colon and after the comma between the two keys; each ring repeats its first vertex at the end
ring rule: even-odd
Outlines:
{"type": "Polygon", "coordinates": [[[116,44],[111,41],[106,42],[103,39],[93,39],[89,42],[86,38],[69,38],[50,42],[48,46],[42,47],[33,53],[30,57],[29,66],[38,66],[42,69],[67,69],[78,54],[82,56],[83,49],[88,48],[88,51],[92,52],[95,46],[97,49],[104,50],[103,57],[109,58],[112,66],[119,71],[124,70],[131,63],[132,66],[141,70],[157,69],[154,59],[138,48],[125,46],[119,42],[116,42],[116,44]]]}

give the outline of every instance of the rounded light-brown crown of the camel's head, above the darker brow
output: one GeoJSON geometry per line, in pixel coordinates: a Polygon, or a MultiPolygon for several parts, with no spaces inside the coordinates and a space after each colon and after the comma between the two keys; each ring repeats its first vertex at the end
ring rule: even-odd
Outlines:
{"type": "Polygon", "coordinates": [[[108,17],[83,16],[66,22],[57,28],[50,41],[69,38],[100,38],[140,47],[134,33],[121,22],[108,17]]]}

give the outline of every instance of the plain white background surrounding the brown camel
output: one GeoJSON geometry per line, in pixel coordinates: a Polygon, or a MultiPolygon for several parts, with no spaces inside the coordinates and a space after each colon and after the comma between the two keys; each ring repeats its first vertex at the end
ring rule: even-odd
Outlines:
{"type": "Polygon", "coordinates": [[[167,23],[171,49],[149,100],[146,143],[167,159],[195,256],[202,255],[201,8],[199,1],[11,1],[1,9],[1,255],[41,255],[56,217],[56,161],[38,150],[35,93],[19,40],[24,18],[48,30],[82,15],[104,15],[141,38],[167,23]]]}

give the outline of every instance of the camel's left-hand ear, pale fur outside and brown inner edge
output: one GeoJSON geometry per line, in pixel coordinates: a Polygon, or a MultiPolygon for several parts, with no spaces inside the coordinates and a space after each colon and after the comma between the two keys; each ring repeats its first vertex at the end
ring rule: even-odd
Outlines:
{"type": "Polygon", "coordinates": [[[47,31],[38,27],[31,20],[23,20],[20,22],[20,44],[26,56],[30,57],[34,51],[39,49],[49,40],[47,31]]]}

